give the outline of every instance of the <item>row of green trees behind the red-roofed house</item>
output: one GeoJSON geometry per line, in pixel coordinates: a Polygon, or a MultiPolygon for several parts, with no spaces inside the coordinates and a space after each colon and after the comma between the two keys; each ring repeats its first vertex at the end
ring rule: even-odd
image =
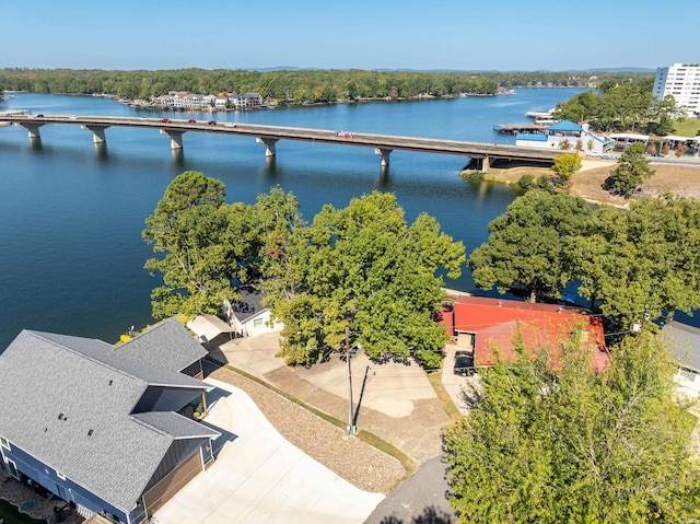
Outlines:
{"type": "Polygon", "coordinates": [[[532,301],[578,293],[612,331],[700,307],[700,202],[666,195],[592,209],[530,190],[488,225],[469,256],[476,284],[532,301]]]}

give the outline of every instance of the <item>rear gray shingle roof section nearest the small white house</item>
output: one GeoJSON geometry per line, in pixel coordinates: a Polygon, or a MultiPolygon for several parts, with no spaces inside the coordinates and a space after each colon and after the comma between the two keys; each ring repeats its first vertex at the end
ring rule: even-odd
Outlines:
{"type": "Polygon", "coordinates": [[[175,318],[110,349],[124,360],[166,371],[184,370],[207,356],[207,350],[175,318]]]}

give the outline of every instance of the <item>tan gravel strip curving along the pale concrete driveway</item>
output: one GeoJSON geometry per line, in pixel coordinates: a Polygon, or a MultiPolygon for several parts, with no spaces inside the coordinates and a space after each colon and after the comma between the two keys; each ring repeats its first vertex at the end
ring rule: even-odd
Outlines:
{"type": "Polygon", "coordinates": [[[225,368],[209,376],[244,391],[284,439],[358,488],[389,493],[405,477],[396,458],[273,391],[225,368]]]}

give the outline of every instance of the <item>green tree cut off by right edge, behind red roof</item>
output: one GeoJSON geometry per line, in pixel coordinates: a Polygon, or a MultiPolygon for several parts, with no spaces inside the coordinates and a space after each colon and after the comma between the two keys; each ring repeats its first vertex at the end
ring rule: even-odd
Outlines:
{"type": "Polygon", "coordinates": [[[648,317],[700,307],[700,203],[665,196],[633,201],[628,211],[609,206],[593,228],[570,244],[579,294],[603,313],[614,330],[648,317]]]}

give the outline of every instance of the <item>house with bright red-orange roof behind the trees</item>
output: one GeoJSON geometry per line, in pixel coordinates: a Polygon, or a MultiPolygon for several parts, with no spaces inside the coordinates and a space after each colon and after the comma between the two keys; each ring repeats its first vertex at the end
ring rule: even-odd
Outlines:
{"type": "Polygon", "coordinates": [[[608,361],[603,322],[582,307],[468,295],[443,310],[442,322],[457,347],[472,352],[475,368],[493,365],[495,350],[503,362],[514,362],[518,337],[528,352],[547,350],[557,365],[562,345],[578,328],[593,352],[594,368],[603,370],[608,361]]]}

